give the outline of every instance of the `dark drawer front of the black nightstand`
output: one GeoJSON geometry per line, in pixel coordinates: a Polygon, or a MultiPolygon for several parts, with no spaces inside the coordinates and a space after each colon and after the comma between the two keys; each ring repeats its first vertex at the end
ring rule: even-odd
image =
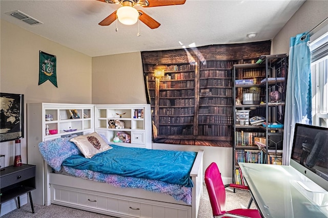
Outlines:
{"type": "MultiPolygon", "coordinates": [[[[6,169],[5,169],[6,170],[6,169]]],[[[35,167],[20,170],[1,177],[1,188],[35,177],[35,167]]]]}

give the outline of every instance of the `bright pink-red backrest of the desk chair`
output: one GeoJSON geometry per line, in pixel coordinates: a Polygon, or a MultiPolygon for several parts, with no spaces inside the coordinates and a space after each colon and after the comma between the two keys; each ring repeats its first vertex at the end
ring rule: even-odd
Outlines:
{"type": "Polygon", "coordinates": [[[213,216],[226,213],[226,189],[216,163],[211,163],[205,170],[205,184],[209,193],[213,216]]]}

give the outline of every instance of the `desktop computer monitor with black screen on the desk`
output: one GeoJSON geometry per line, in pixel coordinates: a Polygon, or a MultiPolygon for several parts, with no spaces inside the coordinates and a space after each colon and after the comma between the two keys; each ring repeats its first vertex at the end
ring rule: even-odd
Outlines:
{"type": "Polygon", "coordinates": [[[328,128],[296,123],[291,166],[328,191],[328,128]]]}

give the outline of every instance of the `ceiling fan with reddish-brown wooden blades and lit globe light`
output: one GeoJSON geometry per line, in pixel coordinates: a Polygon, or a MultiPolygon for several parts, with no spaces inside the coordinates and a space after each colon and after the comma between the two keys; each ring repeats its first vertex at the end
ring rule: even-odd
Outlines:
{"type": "Polygon", "coordinates": [[[99,2],[111,3],[111,4],[120,4],[116,11],[102,20],[100,26],[108,26],[112,24],[116,18],[120,23],[125,25],[133,25],[138,19],[142,23],[146,24],[151,29],[156,29],[160,24],[147,15],[144,11],[137,10],[134,6],[139,5],[144,8],[148,7],[159,7],[159,6],[169,6],[169,5],[183,5],[186,0],[97,0],[99,2]]]}

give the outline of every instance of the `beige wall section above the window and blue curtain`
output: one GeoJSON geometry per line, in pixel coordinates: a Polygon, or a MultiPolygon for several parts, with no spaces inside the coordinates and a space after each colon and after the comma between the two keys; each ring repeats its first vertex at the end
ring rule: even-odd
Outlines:
{"type": "Polygon", "coordinates": [[[289,55],[290,38],[312,30],[327,17],[328,1],[306,1],[272,40],[272,54],[289,55]]]}

